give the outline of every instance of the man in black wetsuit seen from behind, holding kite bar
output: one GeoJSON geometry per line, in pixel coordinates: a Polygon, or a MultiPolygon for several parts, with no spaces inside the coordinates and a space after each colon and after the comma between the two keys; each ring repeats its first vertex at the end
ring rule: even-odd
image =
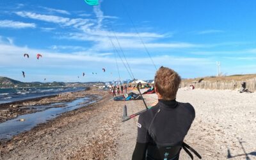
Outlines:
{"type": "Polygon", "coordinates": [[[195,118],[195,109],[175,100],[180,84],[177,72],[161,67],[154,80],[158,103],[139,116],[132,159],[176,160],[186,145],[183,140],[195,118]]]}

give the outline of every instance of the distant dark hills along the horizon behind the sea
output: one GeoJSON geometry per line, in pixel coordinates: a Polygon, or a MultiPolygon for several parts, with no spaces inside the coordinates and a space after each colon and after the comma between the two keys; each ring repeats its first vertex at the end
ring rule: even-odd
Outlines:
{"type": "Polygon", "coordinates": [[[0,88],[20,88],[20,87],[60,87],[60,86],[89,86],[89,85],[104,85],[103,82],[88,82],[88,83],[63,83],[63,82],[52,82],[52,83],[41,83],[31,82],[23,83],[10,79],[8,77],[0,77],[0,88]]]}

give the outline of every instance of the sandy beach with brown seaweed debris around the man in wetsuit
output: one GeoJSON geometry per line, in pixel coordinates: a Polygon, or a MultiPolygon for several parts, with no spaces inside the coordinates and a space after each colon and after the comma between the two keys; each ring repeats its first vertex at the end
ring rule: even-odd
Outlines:
{"type": "MultiPolygon", "coordinates": [[[[131,159],[138,117],[122,122],[124,102],[109,100],[108,92],[92,94],[102,99],[1,141],[0,159],[131,159]]],[[[148,106],[157,102],[156,94],[144,98],[148,106]]],[[[184,141],[202,159],[256,159],[255,98],[256,93],[180,88],[177,100],[196,110],[184,141]]],[[[145,108],[142,100],[126,105],[128,115],[145,108]]],[[[182,150],[180,159],[189,156],[182,150]]]]}

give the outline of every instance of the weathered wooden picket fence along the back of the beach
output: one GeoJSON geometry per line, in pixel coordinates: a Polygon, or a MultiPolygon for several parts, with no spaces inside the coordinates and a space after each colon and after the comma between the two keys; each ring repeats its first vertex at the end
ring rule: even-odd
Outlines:
{"type": "Polygon", "coordinates": [[[181,87],[189,87],[191,84],[195,86],[195,88],[204,88],[204,89],[212,89],[212,90],[239,90],[241,88],[241,83],[246,82],[246,88],[251,91],[256,90],[256,79],[244,79],[243,81],[202,81],[198,82],[181,82],[181,87]]]}

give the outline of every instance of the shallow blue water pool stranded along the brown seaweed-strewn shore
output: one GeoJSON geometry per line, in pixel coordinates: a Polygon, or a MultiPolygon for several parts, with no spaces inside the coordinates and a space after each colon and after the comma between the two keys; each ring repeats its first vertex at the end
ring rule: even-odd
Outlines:
{"type": "Polygon", "coordinates": [[[55,104],[51,104],[51,108],[49,109],[47,109],[45,106],[38,106],[38,110],[41,111],[27,115],[20,115],[17,118],[1,123],[0,140],[8,140],[21,132],[29,131],[38,124],[42,124],[47,122],[47,120],[56,118],[56,116],[60,115],[61,113],[81,108],[85,106],[85,104],[88,105],[92,104],[93,102],[96,102],[96,100],[91,100],[88,97],[84,97],[82,99],[64,103],[65,106],[59,108],[52,108],[52,106],[55,104]],[[25,121],[22,122],[20,119],[24,119],[25,121]]]}

